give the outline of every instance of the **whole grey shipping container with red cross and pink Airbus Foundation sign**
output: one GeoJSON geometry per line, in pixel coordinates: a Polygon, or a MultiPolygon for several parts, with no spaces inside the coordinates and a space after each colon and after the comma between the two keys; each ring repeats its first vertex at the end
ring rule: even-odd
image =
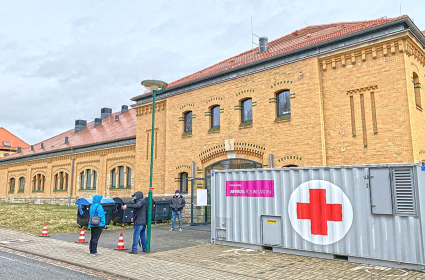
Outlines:
{"type": "Polygon", "coordinates": [[[211,243],[424,270],[425,161],[211,171],[211,243]]]}

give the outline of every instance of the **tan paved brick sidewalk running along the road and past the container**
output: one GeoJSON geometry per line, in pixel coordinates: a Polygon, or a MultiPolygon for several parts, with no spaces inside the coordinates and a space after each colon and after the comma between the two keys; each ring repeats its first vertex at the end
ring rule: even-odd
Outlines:
{"type": "Polygon", "coordinates": [[[222,245],[197,245],[150,254],[99,248],[89,256],[82,244],[0,228],[5,246],[130,279],[425,279],[425,273],[222,245]]]}

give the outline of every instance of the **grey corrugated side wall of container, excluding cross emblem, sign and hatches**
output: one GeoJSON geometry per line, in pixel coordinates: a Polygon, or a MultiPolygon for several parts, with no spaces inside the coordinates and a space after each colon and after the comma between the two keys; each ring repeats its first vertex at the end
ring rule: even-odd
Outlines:
{"type": "MultiPolygon", "coordinates": [[[[424,264],[424,237],[420,207],[424,200],[425,171],[418,164],[297,167],[248,170],[214,170],[211,177],[211,238],[228,245],[261,245],[261,215],[282,217],[282,246],[305,251],[324,252],[424,264]],[[364,176],[369,167],[413,166],[417,216],[372,214],[369,183],[364,176]],[[341,188],[351,202],[352,224],[346,235],[332,244],[318,245],[303,239],[288,217],[288,200],[301,183],[320,179],[341,188]],[[273,180],[274,197],[226,196],[226,180],[273,180]],[[224,228],[226,238],[216,235],[224,228]]],[[[327,197],[328,194],[326,194],[327,197]]],[[[335,195],[329,193],[329,195],[335,195]]],[[[425,207],[422,207],[425,208],[425,207]]],[[[276,249],[273,247],[273,250],[276,249]]],[[[278,248],[277,248],[278,249],[278,248]]]]}

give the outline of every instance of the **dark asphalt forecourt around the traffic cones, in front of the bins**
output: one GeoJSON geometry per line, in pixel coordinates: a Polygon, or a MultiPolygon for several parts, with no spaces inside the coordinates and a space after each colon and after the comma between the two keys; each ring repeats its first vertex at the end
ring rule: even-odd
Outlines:
{"type": "MultiPolygon", "coordinates": [[[[150,241],[150,252],[167,251],[172,249],[180,249],[198,244],[209,243],[211,234],[208,226],[190,226],[183,225],[183,231],[168,231],[170,229],[169,224],[152,225],[151,227],[151,241],[150,241]]],[[[122,231],[124,237],[124,245],[128,250],[131,249],[131,243],[133,240],[133,228],[122,228],[113,230],[103,230],[100,235],[97,247],[104,248],[116,248],[118,244],[119,232],[122,231]]],[[[87,243],[84,245],[88,246],[90,241],[90,231],[85,231],[85,240],[87,243]]],[[[79,233],[66,233],[66,234],[54,234],[50,235],[50,238],[75,242],[78,240],[79,233]]],[[[88,251],[88,248],[87,248],[88,251]]],[[[101,249],[97,249],[101,251],[101,249]]],[[[140,248],[138,252],[140,252],[140,248]]]]}

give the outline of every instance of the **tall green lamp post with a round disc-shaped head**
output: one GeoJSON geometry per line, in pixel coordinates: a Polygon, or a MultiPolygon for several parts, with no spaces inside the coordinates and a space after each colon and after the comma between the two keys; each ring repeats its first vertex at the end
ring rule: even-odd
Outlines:
{"type": "Polygon", "coordinates": [[[164,91],[168,85],[166,82],[156,79],[145,79],[141,84],[147,89],[152,90],[152,135],[150,139],[150,176],[149,176],[149,194],[147,196],[147,229],[146,229],[146,251],[150,252],[150,223],[152,222],[152,170],[153,170],[153,130],[155,125],[155,96],[164,91]]]}

